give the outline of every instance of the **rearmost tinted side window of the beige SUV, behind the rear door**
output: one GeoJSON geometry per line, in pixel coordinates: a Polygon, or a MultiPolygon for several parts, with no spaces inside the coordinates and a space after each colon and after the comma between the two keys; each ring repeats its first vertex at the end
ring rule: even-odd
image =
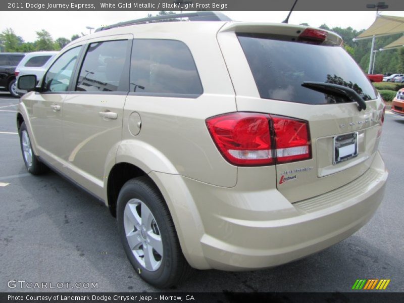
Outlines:
{"type": "Polygon", "coordinates": [[[177,40],[134,39],[130,91],[202,94],[202,84],[188,46],[177,40]]]}

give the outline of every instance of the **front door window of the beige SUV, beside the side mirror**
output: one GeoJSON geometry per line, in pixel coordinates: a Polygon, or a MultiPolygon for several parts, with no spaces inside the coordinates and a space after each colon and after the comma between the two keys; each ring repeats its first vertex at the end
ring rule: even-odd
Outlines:
{"type": "Polygon", "coordinates": [[[80,49],[81,46],[69,49],[54,62],[44,77],[44,91],[67,91],[80,49]]]}

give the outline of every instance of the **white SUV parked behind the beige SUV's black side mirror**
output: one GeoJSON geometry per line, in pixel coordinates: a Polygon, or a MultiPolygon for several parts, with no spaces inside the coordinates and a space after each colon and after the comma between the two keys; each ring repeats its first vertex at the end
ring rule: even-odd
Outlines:
{"type": "MultiPolygon", "coordinates": [[[[16,80],[18,81],[18,78],[22,75],[35,75],[37,79],[41,79],[48,65],[58,53],[59,52],[32,52],[26,54],[16,68],[16,80]]],[[[19,95],[23,95],[26,92],[26,90],[17,87],[17,93],[19,95]]]]}

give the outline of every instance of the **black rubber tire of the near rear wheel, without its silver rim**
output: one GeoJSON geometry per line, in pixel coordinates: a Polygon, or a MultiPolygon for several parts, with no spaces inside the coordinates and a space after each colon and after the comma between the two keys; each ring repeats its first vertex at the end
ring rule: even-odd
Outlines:
{"type": "MultiPolygon", "coordinates": [[[[136,211],[140,216],[140,210],[137,207],[142,207],[143,204],[137,205],[136,211]]],[[[126,255],[135,269],[136,273],[146,282],[150,283],[159,288],[167,288],[173,285],[177,285],[185,280],[189,274],[192,272],[191,267],[185,260],[184,255],[182,254],[181,247],[178,241],[177,233],[175,231],[174,223],[171,218],[170,212],[167,208],[165,200],[157,188],[157,186],[147,177],[138,177],[127,181],[119,192],[118,203],[117,203],[117,221],[118,221],[118,230],[119,235],[125,249],[126,255]],[[153,222],[157,223],[157,231],[159,236],[161,237],[163,254],[160,260],[160,265],[156,270],[147,270],[145,265],[142,265],[136,258],[139,259],[139,256],[136,255],[136,251],[132,251],[129,246],[128,239],[125,232],[125,224],[126,226],[131,227],[131,222],[128,218],[124,220],[125,208],[128,202],[131,201],[131,205],[133,207],[133,201],[141,201],[151,213],[151,217],[153,218],[153,222]],[[126,223],[125,223],[126,222],[126,223]]],[[[143,224],[143,219],[142,219],[143,224]]],[[[152,223],[153,225],[153,223],[152,223]]],[[[140,225],[139,225],[140,226],[140,225]]],[[[136,228],[134,226],[133,233],[140,232],[141,228],[136,228]]],[[[142,233],[140,233],[143,237],[142,233]]],[[[149,235],[145,232],[146,236],[149,235]]],[[[139,236],[137,237],[139,239],[139,236]]],[[[145,238],[142,238],[145,239],[145,238]]],[[[142,240],[143,241],[143,240],[142,240]]],[[[147,246],[146,240],[144,240],[147,246]]],[[[139,240],[140,242],[140,240],[139,240]]],[[[138,244],[136,244],[138,245],[138,244]]],[[[148,244],[149,247],[153,246],[148,244]]],[[[135,246],[137,247],[137,246],[135,246]]],[[[139,246],[139,249],[141,249],[139,246]]],[[[149,248],[150,249],[150,248],[149,248]]],[[[154,248],[153,248],[154,249],[154,248]]],[[[139,250],[141,251],[141,250],[139,250]]],[[[154,256],[159,256],[159,254],[155,255],[155,250],[153,250],[154,256]]],[[[144,259],[144,248],[143,248],[143,260],[144,259]]],[[[141,259],[141,257],[140,257],[141,259]]],[[[155,261],[155,260],[154,260],[155,261]]],[[[146,264],[146,263],[144,263],[146,264]]]]}

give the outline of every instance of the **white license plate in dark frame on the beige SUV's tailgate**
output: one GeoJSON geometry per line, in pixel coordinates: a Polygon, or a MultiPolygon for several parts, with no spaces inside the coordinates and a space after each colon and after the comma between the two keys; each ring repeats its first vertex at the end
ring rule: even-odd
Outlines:
{"type": "Polygon", "coordinates": [[[333,154],[334,165],[358,156],[358,133],[335,136],[333,154]]]}

